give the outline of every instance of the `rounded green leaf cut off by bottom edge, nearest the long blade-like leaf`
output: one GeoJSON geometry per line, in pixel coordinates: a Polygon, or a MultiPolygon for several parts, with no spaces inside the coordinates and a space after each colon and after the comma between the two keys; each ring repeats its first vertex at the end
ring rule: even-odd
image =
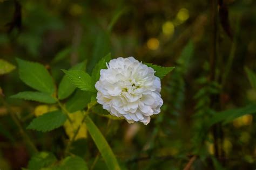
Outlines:
{"type": "Polygon", "coordinates": [[[52,169],[57,169],[57,170],[87,170],[87,164],[86,162],[77,156],[70,156],[66,157],[60,165],[57,167],[53,167],[52,169]]]}

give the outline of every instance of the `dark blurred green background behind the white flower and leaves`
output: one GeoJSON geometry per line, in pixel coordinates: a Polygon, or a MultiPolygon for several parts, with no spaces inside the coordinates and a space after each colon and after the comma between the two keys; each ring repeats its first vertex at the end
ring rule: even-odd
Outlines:
{"type": "MultiPolygon", "coordinates": [[[[90,73],[109,52],[174,66],[162,81],[161,113],[149,125],[93,116],[120,165],[183,169],[192,160],[191,169],[255,169],[255,115],[211,130],[205,123],[215,112],[256,101],[244,69],[256,72],[256,3],[220,0],[215,12],[213,2],[0,0],[0,58],[16,66],[15,58],[40,62],[56,83],[63,76],[60,69],[87,60],[90,73]]],[[[8,98],[29,89],[17,69],[0,76],[0,87],[24,127],[28,125],[40,104],[8,98]]],[[[0,116],[0,168],[26,167],[29,151],[3,105],[0,116]]],[[[61,157],[67,139],[63,128],[28,133],[39,150],[61,157]]],[[[93,169],[105,168],[89,136],[76,141],[73,153],[89,165],[98,157],[93,169]]]]}

